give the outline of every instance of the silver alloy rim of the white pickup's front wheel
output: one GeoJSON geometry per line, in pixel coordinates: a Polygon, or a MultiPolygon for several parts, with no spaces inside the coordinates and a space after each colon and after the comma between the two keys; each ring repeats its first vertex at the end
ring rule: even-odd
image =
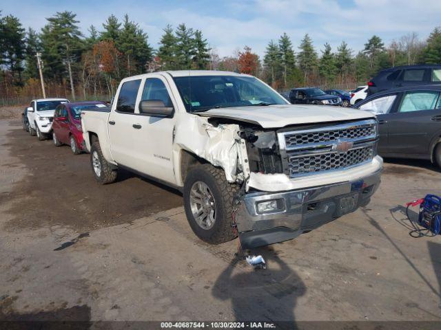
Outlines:
{"type": "Polygon", "coordinates": [[[196,181],[190,189],[190,208],[199,227],[209,230],[216,220],[216,202],[203,181],[196,181]]]}

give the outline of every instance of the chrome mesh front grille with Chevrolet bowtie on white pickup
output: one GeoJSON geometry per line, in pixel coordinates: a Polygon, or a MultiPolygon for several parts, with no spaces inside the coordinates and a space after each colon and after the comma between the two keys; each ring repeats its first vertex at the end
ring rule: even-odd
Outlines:
{"type": "Polygon", "coordinates": [[[283,167],[290,177],[365,164],[376,154],[376,140],[373,119],[278,133],[283,167]]]}

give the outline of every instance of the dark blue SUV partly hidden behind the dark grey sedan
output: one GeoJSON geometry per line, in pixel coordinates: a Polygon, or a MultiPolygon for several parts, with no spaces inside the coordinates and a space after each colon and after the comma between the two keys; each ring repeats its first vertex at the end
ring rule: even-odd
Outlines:
{"type": "Polygon", "coordinates": [[[441,84],[441,65],[403,65],[380,71],[367,83],[367,95],[397,87],[437,84],[441,84]]]}

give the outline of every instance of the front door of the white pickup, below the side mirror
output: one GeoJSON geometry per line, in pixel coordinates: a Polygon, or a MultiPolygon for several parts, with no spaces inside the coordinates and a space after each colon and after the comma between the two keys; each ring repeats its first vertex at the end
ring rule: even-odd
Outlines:
{"type": "MultiPolygon", "coordinates": [[[[170,98],[170,87],[161,75],[149,76],[144,80],[141,100],[162,100],[167,107],[176,104],[170,98]]],[[[139,109],[136,109],[139,113],[139,109]]],[[[134,148],[138,157],[136,170],[171,184],[176,184],[173,170],[174,118],[160,118],[143,113],[136,117],[134,148]]]]}

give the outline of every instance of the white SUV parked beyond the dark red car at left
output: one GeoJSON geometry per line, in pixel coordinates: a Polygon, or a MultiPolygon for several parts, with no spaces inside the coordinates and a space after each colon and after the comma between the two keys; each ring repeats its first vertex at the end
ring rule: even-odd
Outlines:
{"type": "Polygon", "coordinates": [[[67,103],[67,98],[39,98],[32,100],[28,107],[30,135],[37,135],[40,141],[52,131],[52,120],[55,108],[61,103],[67,103]]]}

